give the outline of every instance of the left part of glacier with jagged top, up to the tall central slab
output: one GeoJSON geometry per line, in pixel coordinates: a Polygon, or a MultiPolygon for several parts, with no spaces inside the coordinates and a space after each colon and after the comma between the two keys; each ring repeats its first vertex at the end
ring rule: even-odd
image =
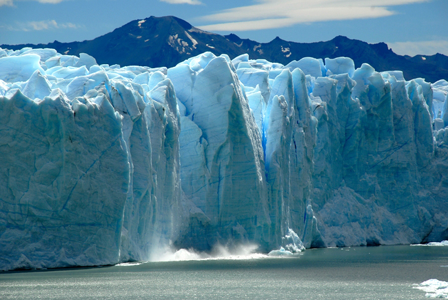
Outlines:
{"type": "Polygon", "coordinates": [[[148,259],[172,239],[181,195],[166,68],[22,52],[0,59],[1,269],[148,259]]]}

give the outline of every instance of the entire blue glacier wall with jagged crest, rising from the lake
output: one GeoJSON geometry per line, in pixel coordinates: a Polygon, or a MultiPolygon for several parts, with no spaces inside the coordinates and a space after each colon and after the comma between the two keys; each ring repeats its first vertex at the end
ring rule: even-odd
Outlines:
{"type": "Polygon", "coordinates": [[[0,50],[0,270],[442,241],[447,94],[345,57],[0,50]]]}

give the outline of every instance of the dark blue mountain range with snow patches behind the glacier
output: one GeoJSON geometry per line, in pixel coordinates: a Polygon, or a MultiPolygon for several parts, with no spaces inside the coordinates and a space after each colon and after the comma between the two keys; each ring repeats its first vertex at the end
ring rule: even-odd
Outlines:
{"type": "Polygon", "coordinates": [[[435,82],[448,80],[448,57],[442,54],[409,57],[394,53],[386,43],[369,44],[338,36],[330,41],[296,43],[276,37],[269,43],[241,39],[236,34],[221,35],[195,28],[177,17],[149,17],[131,21],[90,41],[48,44],[1,45],[12,50],[23,47],[54,48],[59,53],[84,52],[100,64],[121,66],[165,66],[170,68],[205,51],[227,54],[231,59],[247,53],[251,59],[267,59],[286,65],[303,57],[317,59],[351,57],[356,68],[369,63],[377,71],[403,70],[405,79],[422,77],[435,82]]]}

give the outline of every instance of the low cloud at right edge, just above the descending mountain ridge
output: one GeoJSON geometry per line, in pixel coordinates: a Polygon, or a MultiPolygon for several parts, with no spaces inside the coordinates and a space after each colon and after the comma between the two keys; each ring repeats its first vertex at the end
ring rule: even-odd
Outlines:
{"type": "Polygon", "coordinates": [[[448,55],[448,41],[397,41],[387,43],[396,54],[414,57],[418,54],[434,55],[436,53],[448,55]]]}

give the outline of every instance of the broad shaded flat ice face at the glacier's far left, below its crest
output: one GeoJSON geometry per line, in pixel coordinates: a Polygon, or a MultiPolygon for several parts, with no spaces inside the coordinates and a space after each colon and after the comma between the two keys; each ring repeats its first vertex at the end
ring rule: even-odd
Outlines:
{"type": "Polygon", "coordinates": [[[0,98],[2,269],[118,261],[129,165],[119,117],[95,101],[0,98]]]}

